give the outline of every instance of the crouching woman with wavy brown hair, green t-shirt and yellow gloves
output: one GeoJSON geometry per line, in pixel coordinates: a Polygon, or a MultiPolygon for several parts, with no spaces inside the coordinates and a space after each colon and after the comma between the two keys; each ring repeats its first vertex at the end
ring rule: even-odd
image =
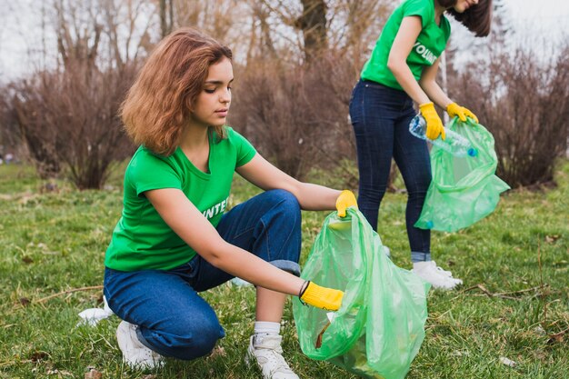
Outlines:
{"type": "Polygon", "coordinates": [[[234,276],[256,284],[248,361],[265,379],[298,379],[282,356],[287,294],[337,310],[343,293],[298,277],[301,209],[355,205],[354,194],[296,181],[225,126],[232,54],[194,29],[168,35],[122,106],[140,145],[125,171],[124,209],[105,255],[105,297],[124,321],[126,364],[209,354],[225,336],[199,293],[234,276]],[[265,192],[225,213],[235,172],[265,192]]]}

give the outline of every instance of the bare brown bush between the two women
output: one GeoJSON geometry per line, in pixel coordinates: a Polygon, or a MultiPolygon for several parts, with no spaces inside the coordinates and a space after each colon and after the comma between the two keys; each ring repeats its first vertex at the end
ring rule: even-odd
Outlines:
{"type": "Polygon", "coordinates": [[[354,159],[348,105],[357,72],[348,59],[286,68],[265,59],[241,71],[230,121],[280,169],[302,179],[313,166],[354,159]]]}

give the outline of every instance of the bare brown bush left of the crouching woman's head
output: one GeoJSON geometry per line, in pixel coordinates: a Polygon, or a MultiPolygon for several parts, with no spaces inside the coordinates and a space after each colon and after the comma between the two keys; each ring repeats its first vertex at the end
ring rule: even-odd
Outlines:
{"type": "Polygon", "coordinates": [[[42,177],[65,165],[79,189],[105,184],[110,165],[133,152],[117,111],[134,75],[130,65],[102,72],[79,62],[14,85],[17,121],[42,177]]]}

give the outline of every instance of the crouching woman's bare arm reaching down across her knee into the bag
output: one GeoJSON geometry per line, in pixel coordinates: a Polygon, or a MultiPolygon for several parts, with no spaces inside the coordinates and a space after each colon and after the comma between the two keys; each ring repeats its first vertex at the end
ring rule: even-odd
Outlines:
{"type": "Polygon", "coordinates": [[[147,191],[145,195],[175,234],[210,264],[264,288],[298,295],[303,279],[225,242],[182,191],[165,188],[147,191]]]}

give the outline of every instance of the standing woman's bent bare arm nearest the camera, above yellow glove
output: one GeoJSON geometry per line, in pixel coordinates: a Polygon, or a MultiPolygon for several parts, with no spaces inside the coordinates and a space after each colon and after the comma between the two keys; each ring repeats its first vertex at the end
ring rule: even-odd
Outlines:
{"type": "Polygon", "coordinates": [[[407,65],[407,56],[411,53],[411,49],[422,28],[421,17],[417,15],[404,17],[399,31],[395,35],[394,43],[391,46],[389,58],[387,59],[387,68],[391,70],[405,93],[411,96],[417,104],[425,104],[431,101],[417,83],[411,69],[407,65]]]}

